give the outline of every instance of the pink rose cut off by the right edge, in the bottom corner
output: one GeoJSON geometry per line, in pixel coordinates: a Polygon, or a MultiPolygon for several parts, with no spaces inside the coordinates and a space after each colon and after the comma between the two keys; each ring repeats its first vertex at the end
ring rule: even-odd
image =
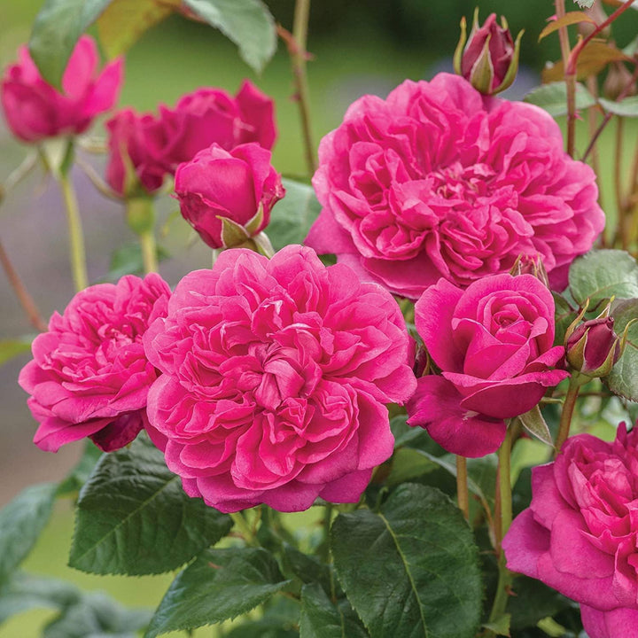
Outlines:
{"type": "Polygon", "coordinates": [[[580,603],[589,638],[638,638],[638,429],[571,437],[532,492],[502,542],[508,568],[580,603]]]}

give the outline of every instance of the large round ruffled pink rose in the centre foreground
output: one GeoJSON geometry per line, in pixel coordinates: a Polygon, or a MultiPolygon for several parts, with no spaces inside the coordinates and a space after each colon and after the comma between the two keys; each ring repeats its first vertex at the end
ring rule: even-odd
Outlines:
{"type": "Polygon", "coordinates": [[[299,245],[224,251],[144,336],[163,373],[152,439],[186,493],[224,512],[357,502],[393,452],[385,404],[414,392],[411,346],[396,301],[350,268],[299,245]]]}

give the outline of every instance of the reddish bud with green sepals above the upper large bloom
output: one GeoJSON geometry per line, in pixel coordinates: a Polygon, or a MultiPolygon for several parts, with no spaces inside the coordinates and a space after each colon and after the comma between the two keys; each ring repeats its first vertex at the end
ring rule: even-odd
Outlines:
{"type": "Polygon", "coordinates": [[[507,20],[496,24],[492,13],[478,26],[478,8],[474,12],[470,37],[466,36],[465,18],[461,20],[461,39],[454,56],[455,72],[471,82],[484,95],[494,95],[507,89],[516,78],[521,31],[516,43],[512,40],[507,20]],[[467,42],[467,43],[466,43],[467,42]]]}

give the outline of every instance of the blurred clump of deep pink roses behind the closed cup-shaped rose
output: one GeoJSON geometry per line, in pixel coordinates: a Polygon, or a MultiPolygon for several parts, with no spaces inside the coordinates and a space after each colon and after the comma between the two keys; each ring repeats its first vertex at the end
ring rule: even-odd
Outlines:
{"type": "Polygon", "coordinates": [[[106,181],[113,191],[123,195],[141,185],[152,192],[165,175],[174,174],[180,163],[211,144],[226,151],[248,142],[271,149],[276,139],[275,106],[246,80],[236,97],[222,89],[197,89],[181,97],[175,108],[160,105],[159,115],[123,109],[106,128],[106,181]],[[127,154],[135,175],[127,176],[127,154]]]}

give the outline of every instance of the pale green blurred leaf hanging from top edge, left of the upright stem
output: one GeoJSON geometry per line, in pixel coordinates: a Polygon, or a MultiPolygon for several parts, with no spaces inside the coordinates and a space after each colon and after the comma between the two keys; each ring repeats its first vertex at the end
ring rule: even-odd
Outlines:
{"type": "Polygon", "coordinates": [[[273,57],[275,20],[261,0],[183,0],[183,6],[236,43],[239,56],[257,73],[273,57]]]}

